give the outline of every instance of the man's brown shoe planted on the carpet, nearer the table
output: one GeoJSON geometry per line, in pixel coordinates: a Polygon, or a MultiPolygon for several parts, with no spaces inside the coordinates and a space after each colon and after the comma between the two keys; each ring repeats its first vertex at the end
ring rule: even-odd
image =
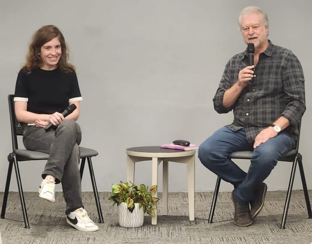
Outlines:
{"type": "Polygon", "coordinates": [[[249,203],[241,204],[236,202],[234,198],[234,191],[232,191],[232,199],[234,203],[234,223],[237,226],[250,226],[252,219],[250,218],[249,203]]]}

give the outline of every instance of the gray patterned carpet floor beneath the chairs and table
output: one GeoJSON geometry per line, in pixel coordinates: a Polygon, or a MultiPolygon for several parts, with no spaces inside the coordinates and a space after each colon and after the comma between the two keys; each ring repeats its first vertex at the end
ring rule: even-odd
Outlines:
{"type": "MultiPolygon", "coordinates": [[[[309,191],[312,200],[312,191],[309,191]]],[[[18,244],[85,244],[85,243],[246,243],[246,244],[310,244],[312,219],[308,219],[302,191],[293,191],[287,216],[286,229],[281,230],[285,191],[269,191],[265,206],[250,227],[237,227],[233,223],[233,203],[230,192],[220,192],[214,223],[208,223],[213,192],[195,194],[195,221],[188,220],[187,193],[170,193],[168,216],[158,215],[158,225],[144,217],[139,228],[119,227],[117,206],[108,201],[109,193],[101,192],[100,201],[104,224],[97,232],[80,232],[66,223],[65,201],[56,193],[56,202],[38,197],[36,192],[25,192],[30,229],[24,228],[20,200],[17,192],[10,192],[6,219],[0,219],[2,243],[18,244]]],[[[161,198],[161,193],[158,194],[161,198]]],[[[0,193],[2,206],[3,192],[0,193]]],[[[98,221],[93,192],[84,192],[83,201],[90,218],[98,221]]],[[[158,211],[162,208],[159,201],[158,211]]]]}

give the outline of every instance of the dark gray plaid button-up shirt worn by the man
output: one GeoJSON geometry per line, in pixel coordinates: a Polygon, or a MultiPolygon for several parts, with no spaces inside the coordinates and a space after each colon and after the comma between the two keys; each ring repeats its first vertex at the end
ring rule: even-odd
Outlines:
{"type": "Polygon", "coordinates": [[[259,55],[253,82],[247,84],[232,107],[224,108],[224,92],[236,83],[239,71],[247,64],[247,50],[227,62],[213,98],[215,110],[227,113],[233,109],[234,122],[227,127],[233,131],[245,128],[251,145],[261,130],[280,116],[290,121],[285,131],[296,140],[305,112],[305,79],[299,60],[290,50],[269,41],[268,48],[259,55]]]}

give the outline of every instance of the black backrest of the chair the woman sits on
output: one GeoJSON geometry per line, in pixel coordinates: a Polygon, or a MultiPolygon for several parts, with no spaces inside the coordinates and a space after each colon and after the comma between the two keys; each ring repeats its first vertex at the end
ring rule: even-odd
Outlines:
{"type": "Polygon", "coordinates": [[[14,109],[14,95],[8,95],[9,101],[9,111],[10,111],[10,122],[11,122],[11,135],[12,135],[12,148],[13,153],[18,149],[17,146],[17,136],[22,136],[22,127],[20,127],[20,122],[18,122],[15,109],[14,109]]]}

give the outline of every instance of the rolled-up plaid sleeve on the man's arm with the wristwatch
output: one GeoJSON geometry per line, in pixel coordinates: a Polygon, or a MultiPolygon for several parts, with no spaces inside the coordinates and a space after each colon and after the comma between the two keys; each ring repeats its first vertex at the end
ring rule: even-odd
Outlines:
{"type": "Polygon", "coordinates": [[[298,127],[305,112],[305,79],[301,64],[295,55],[292,55],[285,65],[282,80],[289,103],[281,115],[294,127],[298,127]]]}

